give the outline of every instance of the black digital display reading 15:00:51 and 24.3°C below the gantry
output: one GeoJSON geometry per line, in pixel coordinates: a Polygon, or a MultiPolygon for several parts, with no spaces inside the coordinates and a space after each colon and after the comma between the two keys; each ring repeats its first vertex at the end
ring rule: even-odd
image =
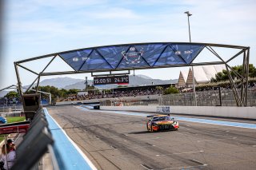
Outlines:
{"type": "Polygon", "coordinates": [[[94,77],[94,85],[129,83],[129,76],[94,77]]]}

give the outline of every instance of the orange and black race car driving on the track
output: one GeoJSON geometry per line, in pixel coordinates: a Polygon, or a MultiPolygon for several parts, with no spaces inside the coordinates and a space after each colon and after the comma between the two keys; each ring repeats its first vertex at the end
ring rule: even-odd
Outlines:
{"type": "Polygon", "coordinates": [[[178,130],[178,121],[174,121],[169,115],[148,116],[150,120],[146,123],[146,128],[150,132],[163,130],[178,130]]]}

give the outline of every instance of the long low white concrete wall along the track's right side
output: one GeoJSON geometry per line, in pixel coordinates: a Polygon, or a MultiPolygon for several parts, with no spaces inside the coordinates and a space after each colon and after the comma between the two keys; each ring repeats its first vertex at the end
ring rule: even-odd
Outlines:
{"type": "Polygon", "coordinates": [[[256,107],[219,106],[100,106],[102,110],[122,110],[149,113],[178,113],[213,117],[256,119],[256,107]]]}

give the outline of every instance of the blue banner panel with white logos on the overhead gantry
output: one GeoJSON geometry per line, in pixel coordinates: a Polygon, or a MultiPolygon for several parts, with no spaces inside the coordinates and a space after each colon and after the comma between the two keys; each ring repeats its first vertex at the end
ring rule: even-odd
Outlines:
{"type": "Polygon", "coordinates": [[[205,45],[151,43],[78,49],[59,55],[76,71],[188,65],[205,45]]]}

